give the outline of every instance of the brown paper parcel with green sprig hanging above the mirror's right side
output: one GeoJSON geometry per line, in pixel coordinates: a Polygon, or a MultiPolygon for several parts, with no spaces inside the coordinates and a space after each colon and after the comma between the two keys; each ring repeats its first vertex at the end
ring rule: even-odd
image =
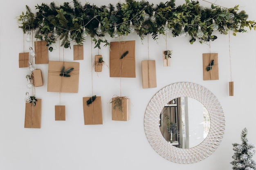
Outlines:
{"type": "Polygon", "coordinates": [[[218,68],[218,53],[204,53],[203,54],[203,76],[204,80],[218,80],[219,68],[218,68]],[[213,66],[209,66],[211,61],[214,61],[213,66]],[[210,68],[207,71],[207,68],[210,68]]]}

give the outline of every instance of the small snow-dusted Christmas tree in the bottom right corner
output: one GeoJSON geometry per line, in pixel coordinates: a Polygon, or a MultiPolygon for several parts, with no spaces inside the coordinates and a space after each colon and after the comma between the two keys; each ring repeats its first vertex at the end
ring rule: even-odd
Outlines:
{"type": "Polygon", "coordinates": [[[254,144],[248,143],[247,128],[244,128],[241,133],[242,144],[232,144],[235,151],[232,158],[234,161],[230,163],[233,165],[233,170],[256,170],[256,163],[252,159],[255,154],[254,144]]]}

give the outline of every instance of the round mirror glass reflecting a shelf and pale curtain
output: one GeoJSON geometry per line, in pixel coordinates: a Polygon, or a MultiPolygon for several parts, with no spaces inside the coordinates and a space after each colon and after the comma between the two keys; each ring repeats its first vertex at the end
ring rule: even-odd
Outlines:
{"type": "Polygon", "coordinates": [[[178,148],[193,148],[207,137],[211,120],[207,109],[196,99],[179,97],[166,104],[159,128],[166,141],[178,148]]]}

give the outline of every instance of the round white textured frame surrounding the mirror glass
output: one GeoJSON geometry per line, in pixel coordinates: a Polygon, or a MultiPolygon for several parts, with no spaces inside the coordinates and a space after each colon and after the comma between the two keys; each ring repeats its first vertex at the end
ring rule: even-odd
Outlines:
{"type": "Polygon", "coordinates": [[[146,108],[144,117],[146,137],[153,149],[165,159],[175,163],[195,163],[209,157],[220,145],[225,131],[225,115],[220,102],[207,88],[189,82],[171,84],[157,92],[146,108]],[[211,127],[204,141],[189,149],[169,144],[159,128],[159,115],[164,105],[177,97],[191,97],[201,102],[208,110],[211,127]]]}

